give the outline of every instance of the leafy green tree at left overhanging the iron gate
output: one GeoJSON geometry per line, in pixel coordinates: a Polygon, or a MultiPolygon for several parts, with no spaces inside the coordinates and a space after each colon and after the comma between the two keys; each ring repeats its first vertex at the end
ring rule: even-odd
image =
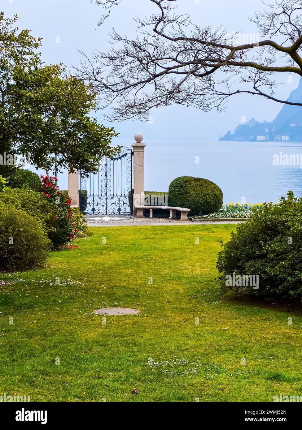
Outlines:
{"type": "Polygon", "coordinates": [[[0,154],[30,154],[44,170],[58,154],[58,169],[95,172],[100,157],[116,154],[110,144],[117,133],[89,116],[97,107],[92,85],[62,64],[45,65],[41,39],[19,31],[17,19],[0,12],[0,154]]]}

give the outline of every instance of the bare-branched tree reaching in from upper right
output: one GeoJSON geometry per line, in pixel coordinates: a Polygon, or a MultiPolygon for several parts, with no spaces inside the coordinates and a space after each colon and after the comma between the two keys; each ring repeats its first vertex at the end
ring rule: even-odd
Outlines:
{"type": "MultiPolygon", "coordinates": [[[[100,24],[121,1],[95,0],[105,9],[100,24]]],[[[267,5],[251,19],[258,28],[255,40],[240,32],[229,35],[223,27],[194,25],[190,16],[174,12],[178,0],[144,1],[153,3],[154,13],[135,20],[137,36],[113,30],[112,49],[86,56],[78,68],[103,106],[115,102],[110,120],[146,120],[150,109],[170,104],[222,110],[228,97],[240,93],[302,106],[274,95],[276,74],[302,76],[302,0],[267,5]]]]}

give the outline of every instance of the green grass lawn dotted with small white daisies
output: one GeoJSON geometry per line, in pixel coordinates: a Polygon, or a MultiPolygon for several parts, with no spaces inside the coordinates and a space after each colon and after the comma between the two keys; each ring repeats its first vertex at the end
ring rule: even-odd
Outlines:
{"type": "Polygon", "coordinates": [[[47,269],[2,276],[0,395],[271,402],[302,394],[301,314],[231,299],[215,283],[219,241],[235,228],[93,227],[78,249],[52,252],[47,269]],[[107,306],[141,313],[102,325],[91,312],[107,306]]]}

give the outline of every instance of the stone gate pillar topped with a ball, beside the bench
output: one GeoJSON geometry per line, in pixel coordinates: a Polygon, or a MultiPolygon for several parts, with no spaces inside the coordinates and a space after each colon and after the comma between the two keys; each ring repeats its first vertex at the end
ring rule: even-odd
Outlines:
{"type": "Polygon", "coordinates": [[[143,135],[140,133],[134,136],[136,143],[131,145],[133,147],[133,215],[137,214],[134,204],[143,205],[145,200],[144,189],[144,151],[145,144],[142,143],[143,135]]]}

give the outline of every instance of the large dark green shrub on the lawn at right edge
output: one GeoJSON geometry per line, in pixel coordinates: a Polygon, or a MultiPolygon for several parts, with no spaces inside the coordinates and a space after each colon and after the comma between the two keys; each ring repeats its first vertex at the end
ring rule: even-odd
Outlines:
{"type": "Polygon", "coordinates": [[[253,215],[218,254],[221,287],[265,298],[302,301],[302,198],[290,191],[280,204],[253,215]]]}

